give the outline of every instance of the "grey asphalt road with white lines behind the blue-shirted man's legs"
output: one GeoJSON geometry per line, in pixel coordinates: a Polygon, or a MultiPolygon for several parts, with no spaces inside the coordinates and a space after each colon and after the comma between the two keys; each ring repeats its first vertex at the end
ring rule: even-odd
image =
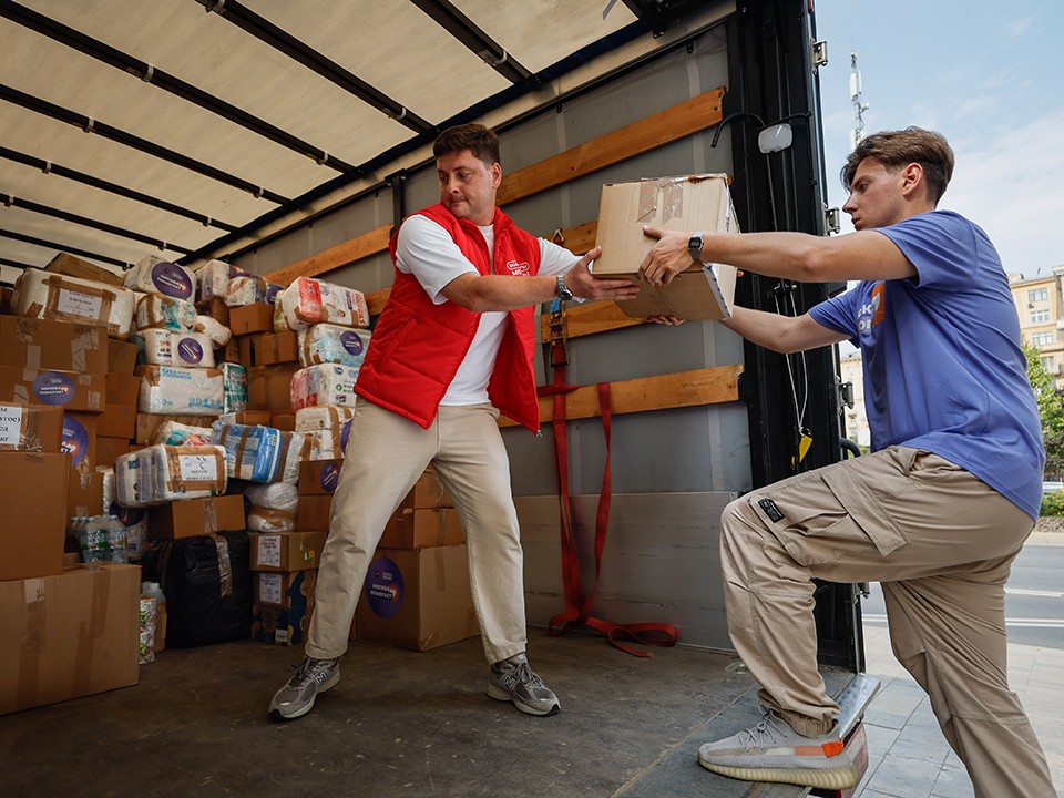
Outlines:
{"type": "MultiPolygon", "coordinates": [[[[883,591],[872,582],[866,624],[887,625],[883,591]]],[[[1005,587],[1009,642],[1064,649],[1064,545],[1027,543],[1005,587]]]]}

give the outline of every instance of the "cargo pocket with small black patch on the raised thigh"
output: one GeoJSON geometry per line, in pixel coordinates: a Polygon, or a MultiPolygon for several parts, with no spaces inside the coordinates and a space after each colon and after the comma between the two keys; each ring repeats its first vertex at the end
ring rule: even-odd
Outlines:
{"type": "Polygon", "coordinates": [[[845,468],[812,471],[747,501],[787,552],[800,564],[836,562],[853,544],[876,546],[887,556],[909,542],[876,495],[845,468]]]}

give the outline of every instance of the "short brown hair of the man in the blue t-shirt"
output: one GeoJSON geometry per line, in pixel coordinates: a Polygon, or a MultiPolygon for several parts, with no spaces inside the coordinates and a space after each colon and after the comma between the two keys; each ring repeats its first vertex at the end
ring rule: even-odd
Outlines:
{"type": "Polygon", "coordinates": [[[857,167],[867,157],[876,158],[890,172],[911,163],[920,164],[928,186],[928,200],[935,206],[953,176],[953,150],[945,136],[922,127],[884,131],[863,139],[850,153],[839,175],[843,188],[850,191],[857,167]]]}

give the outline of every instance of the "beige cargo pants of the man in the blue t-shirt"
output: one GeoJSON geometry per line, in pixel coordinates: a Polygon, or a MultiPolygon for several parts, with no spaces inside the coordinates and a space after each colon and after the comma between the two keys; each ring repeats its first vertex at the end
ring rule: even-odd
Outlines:
{"type": "Polygon", "coordinates": [[[759,697],[799,734],[838,705],[817,671],[812,577],[882,583],[894,655],[927,690],[979,798],[1055,798],[1009,689],[1005,581],[1031,518],[925,451],[874,454],[751,491],[722,518],[728,630],[759,697]]]}

